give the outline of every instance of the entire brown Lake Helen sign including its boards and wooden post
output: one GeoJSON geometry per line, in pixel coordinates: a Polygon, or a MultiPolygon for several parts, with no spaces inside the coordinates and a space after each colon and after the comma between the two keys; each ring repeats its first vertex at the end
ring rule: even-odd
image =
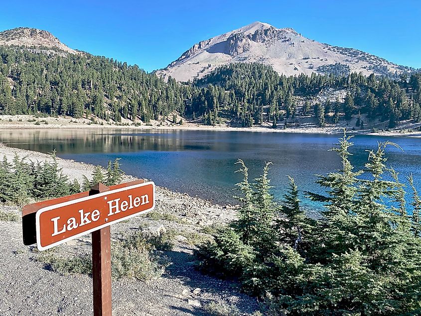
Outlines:
{"type": "Polygon", "coordinates": [[[143,180],[29,204],[22,209],[25,245],[46,250],[92,233],[94,316],[111,316],[110,225],[152,210],[155,184],[143,180]]]}

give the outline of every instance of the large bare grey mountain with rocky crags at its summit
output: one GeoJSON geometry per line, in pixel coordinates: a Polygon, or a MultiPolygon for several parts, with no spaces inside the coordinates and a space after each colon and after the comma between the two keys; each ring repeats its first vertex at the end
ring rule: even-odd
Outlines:
{"type": "Polygon", "coordinates": [[[217,67],[237,62],[258,62],[285,75],[362,72],[364,75],[409,71],[386,59],[354,48],[319,43],[292,28],[254,22],[194,44],[157,75],[178,81],[202,78],[217,67]]]}

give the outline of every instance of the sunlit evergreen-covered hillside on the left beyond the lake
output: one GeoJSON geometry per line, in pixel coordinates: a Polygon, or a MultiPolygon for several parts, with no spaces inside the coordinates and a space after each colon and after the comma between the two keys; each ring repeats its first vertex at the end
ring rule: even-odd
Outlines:
{"type": "Polygon", "coordinates": [[[0,113],[69,115],[91,113],[148,122],[183,112],[188,87],[163,82],[138,66],[90,54],[45,54],[0,46],[0,113]]]}

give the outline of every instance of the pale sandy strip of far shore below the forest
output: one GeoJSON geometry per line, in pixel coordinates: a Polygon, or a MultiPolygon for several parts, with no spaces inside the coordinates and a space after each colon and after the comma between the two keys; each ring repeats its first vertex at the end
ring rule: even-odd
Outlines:
{"type": "Polygon", "coordinates": [[[132,130],[132,131],[145,131],[145,130],[162,130],[162,131],[215,131],[215,132],[258,132],[258,133],[302,133],[302,134],[342,134],[343,129],[347,129],[350,135],[372,135],[372,136],[406,136],[406,137],[421,137],[421,131],[413,131],[414,128],[420,128],[421,124],[404,124],[401,129],[391,131],[377,131],[371,132],[370,130],[353,131],[349,126],[331,125],[327,127],[316,127],[314,124],[303,124],[302,127],[291,128],[271,128],[254,126],[254,127],[230,127],[227,125],[208,126],[201,123],[186,122],[183,125],[172,124],[166,122],[164,125],[158,125],[159,122],[154,121],[149,125],[132,125],[133,122],[125,120],[120,125],[111,124],[106,121],[99,120],[99,124],[94,124],[88,119],[73,119],[70,117],[45,117],[37,118],[33,115],[0,115],[0,130],[7,129],[116,129],[116,130],[132,130]],[[11,121],[10,121],[11,120],[11,121]],[[31,122],[29,122],[31,121],[31,122]],[[39,125],[35,123],[39,122],[39,125]]]}

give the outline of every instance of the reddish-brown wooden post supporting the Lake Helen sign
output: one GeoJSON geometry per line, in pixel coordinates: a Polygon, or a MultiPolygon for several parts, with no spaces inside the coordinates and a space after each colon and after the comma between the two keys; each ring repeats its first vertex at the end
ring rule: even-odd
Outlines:
{"type": "MultiPolygon", "coordinates": [[[[108,191],[99,183],[91,188],[89,195],[108,191]]],[[[110,226],[92,232],[92,282],[94,293],[94,316],[111,316],[111,233],[110,226]]]]}

